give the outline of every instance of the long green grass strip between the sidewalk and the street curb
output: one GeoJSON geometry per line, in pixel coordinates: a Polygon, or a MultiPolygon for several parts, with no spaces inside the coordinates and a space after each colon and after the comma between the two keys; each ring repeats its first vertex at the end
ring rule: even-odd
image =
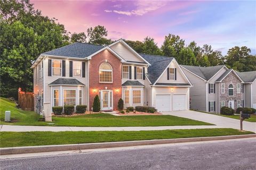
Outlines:
{"type": "Polygon", "coordinates": [[[1,132],[0,147],[175,139],[242,134],[253,134],[253,132],[239,132],[233,128],[175,129],[163,131],[1,132]]]}

